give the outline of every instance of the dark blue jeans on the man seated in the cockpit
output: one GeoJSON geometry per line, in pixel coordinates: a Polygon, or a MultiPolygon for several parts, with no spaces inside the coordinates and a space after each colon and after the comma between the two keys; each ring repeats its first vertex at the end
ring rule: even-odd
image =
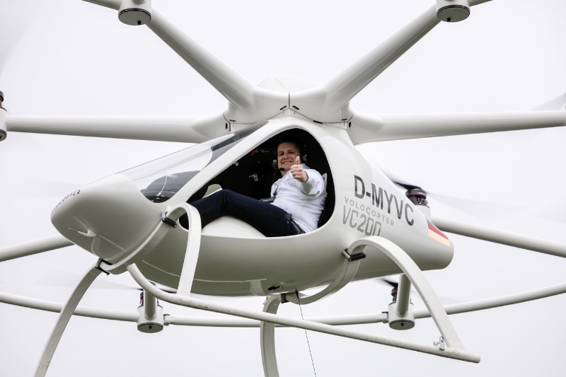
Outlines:
{"type": "MultiPolygon", "coordinates": [[[[233,216],[246,221],[266,237],[294,236],[299,234],[287,219],[287,212],[270,203],[246,197],[230,190],[220,190],[214,194],[190,203],[200,213],[201,226],[207,226],[222,216],[233,216]]],[[[179,222],[188,228],[187,215],[180,217],[179,222]]]]}

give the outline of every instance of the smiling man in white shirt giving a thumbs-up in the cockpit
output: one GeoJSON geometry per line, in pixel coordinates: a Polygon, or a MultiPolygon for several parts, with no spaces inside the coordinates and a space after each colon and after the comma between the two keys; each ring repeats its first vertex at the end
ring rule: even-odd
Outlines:
{"type": "Polygon", "coordinates": [[[326,199],[325,183],[318,171],[301,163],[300,146],[296,139],[279,141],[277,167],[282,178],[272,185],[270,199],[219,190],[190,203],[200,213],[201,226],[229,215],[246,221],[266,237],[294,236],[318,228],[326,199]]]}

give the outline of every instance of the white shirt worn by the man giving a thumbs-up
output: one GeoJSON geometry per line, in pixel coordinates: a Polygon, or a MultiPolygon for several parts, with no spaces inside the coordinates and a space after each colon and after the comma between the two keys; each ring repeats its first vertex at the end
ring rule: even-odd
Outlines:
{"type": "Polygon", "coordinates": [[[271,204],[291,214],[296,224],[308,233],[318,228],[318,219],[326,200],[326,187],[318,171],[309,169],[304,163],[301,166],[308,180],[296,180],[288,171],[271,186],[271,195],[275,196],[271,204]]]}

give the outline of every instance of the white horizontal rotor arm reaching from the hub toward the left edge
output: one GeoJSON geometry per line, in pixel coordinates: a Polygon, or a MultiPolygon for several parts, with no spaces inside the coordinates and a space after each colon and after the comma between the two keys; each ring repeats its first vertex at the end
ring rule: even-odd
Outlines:
{"type": "Polygon", "coordinates": [[[6,117],[8,132],[202,143],[228,133],[219,115],[6,117]]]}

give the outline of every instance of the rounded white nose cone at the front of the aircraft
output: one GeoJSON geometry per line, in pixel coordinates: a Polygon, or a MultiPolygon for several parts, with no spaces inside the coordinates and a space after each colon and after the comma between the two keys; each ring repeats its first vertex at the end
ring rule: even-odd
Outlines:
{"type": "Polygon", "coordinates": [[[161,207],[129,178],[115,174],[64,197],[53,209],[51,222],[71,242],[114,263],[149,236],[161,207]]]}

